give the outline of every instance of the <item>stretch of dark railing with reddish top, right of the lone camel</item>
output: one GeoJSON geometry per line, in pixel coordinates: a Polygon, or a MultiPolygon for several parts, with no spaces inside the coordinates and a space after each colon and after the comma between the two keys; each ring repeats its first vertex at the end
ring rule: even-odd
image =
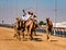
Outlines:
{"type": "Polygon", "coordinates": [[[54,27],[52,32],[53,34],[54,30],[56,36],[66,37],[66,27],[54,27]]]}

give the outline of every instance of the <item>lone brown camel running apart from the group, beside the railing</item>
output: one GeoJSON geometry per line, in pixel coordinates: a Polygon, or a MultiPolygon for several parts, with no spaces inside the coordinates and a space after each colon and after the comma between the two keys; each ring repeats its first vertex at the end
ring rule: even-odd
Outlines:
{"type": "Polygon", "coordinates": [[[53,28],[53,23],[52,21],[50,20],[50,17],[46,18],[46,37],[47,39],[50,39],[50,34],[52,33],[52,28],[53,28]]]}

